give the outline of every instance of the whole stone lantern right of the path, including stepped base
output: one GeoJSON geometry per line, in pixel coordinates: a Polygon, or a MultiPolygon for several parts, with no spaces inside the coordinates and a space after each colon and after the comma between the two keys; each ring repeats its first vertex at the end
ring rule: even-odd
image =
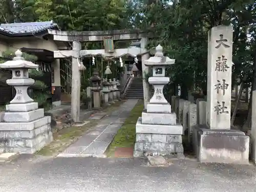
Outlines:
{"type": "Polygon", "coordinates": [[[153,77],[148,78],[148,82],[155,92],[136,124],[135,157],[150,154],[183,156],[183,127],[176,123],[176,114],[163,95],[163,88],[169,82],[165,67],[174,64],[175,59],[163,56],[162,51],[158,45],[155,56],[144,60],[145,66],[153,68],[153,77]]]}

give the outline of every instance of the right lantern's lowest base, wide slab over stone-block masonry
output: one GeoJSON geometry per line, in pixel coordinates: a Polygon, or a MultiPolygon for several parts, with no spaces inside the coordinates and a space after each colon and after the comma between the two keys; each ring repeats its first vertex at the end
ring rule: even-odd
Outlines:
{"type": "Polygon", "coordinates": [[[181,124],[142,124],[142,118],[139,117],[136,123],[134,157],[169,154],[182,156],[182,135],[183,127],[181,124]]]}

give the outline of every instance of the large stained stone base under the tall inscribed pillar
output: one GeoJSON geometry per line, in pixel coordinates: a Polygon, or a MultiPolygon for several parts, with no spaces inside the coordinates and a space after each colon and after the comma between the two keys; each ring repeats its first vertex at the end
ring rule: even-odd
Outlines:
{"type": "Polygon", "coordinates": [[[210,130],[195,126],[193,145],[200,162],[249,163],[249,137],[238,130],[210,130]]]}

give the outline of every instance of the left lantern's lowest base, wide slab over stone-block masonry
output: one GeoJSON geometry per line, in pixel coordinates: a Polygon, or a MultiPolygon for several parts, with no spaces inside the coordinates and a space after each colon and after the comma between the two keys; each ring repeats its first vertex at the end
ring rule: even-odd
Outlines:
{"type": "Polygon", "coordinates": [[[53,141],[51,117],[30,122],[0,122],[0,151],[33,154],[53,141]]]}

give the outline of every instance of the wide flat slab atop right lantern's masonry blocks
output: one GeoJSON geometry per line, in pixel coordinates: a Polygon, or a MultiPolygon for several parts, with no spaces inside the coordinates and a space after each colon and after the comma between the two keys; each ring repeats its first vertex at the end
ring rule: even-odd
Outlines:
{"type": "Polygon", "coordinates": [[[183,127],[179,123],[176,125],[142,124],[139,117],[136,123],[137,133],[183,135],[183,127]]]}

